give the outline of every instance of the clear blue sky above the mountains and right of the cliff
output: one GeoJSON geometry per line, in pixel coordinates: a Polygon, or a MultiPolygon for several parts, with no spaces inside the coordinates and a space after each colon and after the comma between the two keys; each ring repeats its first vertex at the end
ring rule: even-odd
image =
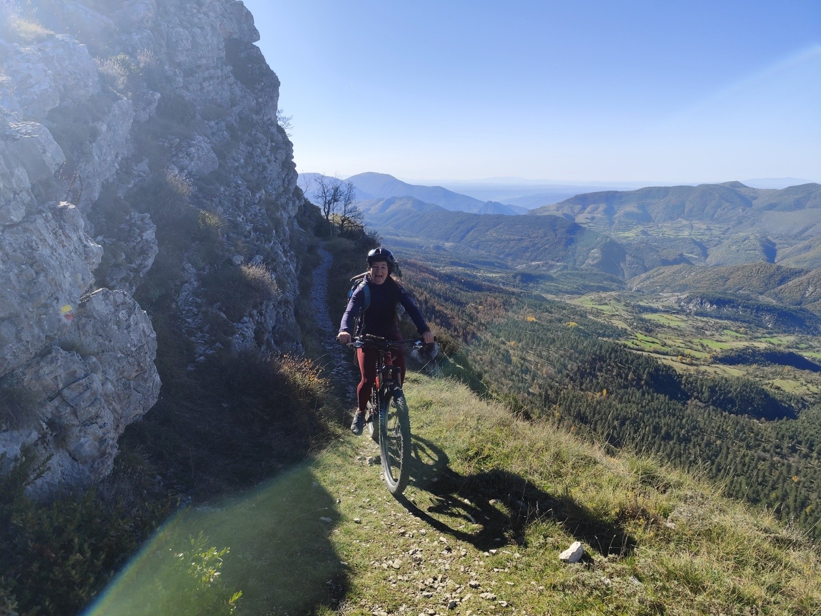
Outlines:
{"type": "Polygon", "coordinates": [[[246,0],[297,170],[821,182],[819,0],[246,0]]]}

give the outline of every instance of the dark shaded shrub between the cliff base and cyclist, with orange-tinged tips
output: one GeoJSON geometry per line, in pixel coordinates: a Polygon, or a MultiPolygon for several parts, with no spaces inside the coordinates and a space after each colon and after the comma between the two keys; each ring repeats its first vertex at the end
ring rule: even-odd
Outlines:
{"type": "MultiPolygon", "coordinates": [[[[167,335],[158,330],[160,348],[167,335]]],[[[120,444],[141,444],[195,499],[257,485],[332,434],[336,409],[326,407],[328,383],[310,361],[247,348],[195,370],[162,365],[162,396],[120,444]]]]}

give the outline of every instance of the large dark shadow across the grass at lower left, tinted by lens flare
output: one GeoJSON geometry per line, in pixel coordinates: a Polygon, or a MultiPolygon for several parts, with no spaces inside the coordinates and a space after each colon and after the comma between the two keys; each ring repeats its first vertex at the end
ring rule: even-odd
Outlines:
{"type": "Polygon", "coordinates": [[[238,613],[337,609],[350,590],[349,571],[330,539],[339,520],[335,499],[310,467],[282,473],[213,506],[183,509],[108,584],[85,616],[216,614],[213,601],[197,603],[209,596],[201,583],[205,572],[195,567],[198,554],[209,546],[230,548],[219,578],[226,590],[218,596],[224,600],[241,590],[238,613]],[[202,545],[191,553],[195,541],[190,538],[200,535],[202,545]],[[178,566],[174,554],[190,559],[191,566],[178,566]]]}

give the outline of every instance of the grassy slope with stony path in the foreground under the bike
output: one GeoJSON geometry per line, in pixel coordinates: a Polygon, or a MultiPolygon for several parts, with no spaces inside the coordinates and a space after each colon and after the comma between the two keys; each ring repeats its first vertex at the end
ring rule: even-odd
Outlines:
{"type": "MultiPolygon", "coordinates": [[[[415,434],[406,500],[369,466],[375,445],[340,428],[303,467],[169,524],[231,548],[222,573],[244,591],[237,614],[821,609],[819,554],[771,518],[654,462],[517,421],[454,381],[410,375],[406,393],[415,434]],[[574,540],[589,555],[560,563],[574,540]]],[[[140,572],[155,578],[146,565],[163,549],[160,534],[93,613],[131,613],[129,597],[144,604],[140,572]]]]}

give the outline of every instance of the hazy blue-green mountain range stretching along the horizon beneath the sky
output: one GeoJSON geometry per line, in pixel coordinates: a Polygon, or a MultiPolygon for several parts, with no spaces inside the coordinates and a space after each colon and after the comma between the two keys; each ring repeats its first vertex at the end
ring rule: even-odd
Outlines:
{"type": "Polygon", "coordinates": [[[622,280],[669,265],[821,268],[821,185],[815,183],[597,191],[511,216],[523,209],[442,186],[371,172],[348,179],[365,220],[383,236],[477,264],[542,272],[571,267],[622,280]]]}

